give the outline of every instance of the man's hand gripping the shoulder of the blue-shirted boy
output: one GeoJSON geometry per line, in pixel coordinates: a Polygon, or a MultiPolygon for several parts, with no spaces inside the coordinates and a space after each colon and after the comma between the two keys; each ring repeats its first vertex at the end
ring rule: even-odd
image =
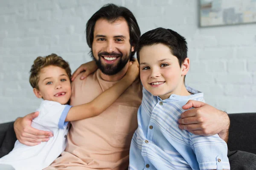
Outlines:
{"type": "Polygon", "coordinates": [[[211,136],[219,134],[227,142],[230,120],[227,113],[204,102],[189,100],[182,108],[187,110],[181,114],[179,128],[196,135],[211,136]]]}

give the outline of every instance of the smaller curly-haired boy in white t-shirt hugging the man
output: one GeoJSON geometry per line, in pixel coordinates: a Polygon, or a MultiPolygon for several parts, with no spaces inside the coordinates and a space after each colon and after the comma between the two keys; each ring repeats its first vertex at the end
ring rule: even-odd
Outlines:
{"type": "Polygon", "coordinates": [[[0,169],[6,168],[6,165],[16,170],[42,170],[48,167],[66,147],[68,122],[97,116],[107,109],[134,82],[139,68],[136,62],[130,63],[122,80],[92,102],[74,107],[68,105],[71,71],[64,59],[56,54],[37,57],[30,72],[29,82],[35,96],[44,99],[38,109],[39,116],[32,121],[32,127],[51,131],[54,136],[48,142],[32,147],[17,140],[14,149],[0,159],[0,169]]]}

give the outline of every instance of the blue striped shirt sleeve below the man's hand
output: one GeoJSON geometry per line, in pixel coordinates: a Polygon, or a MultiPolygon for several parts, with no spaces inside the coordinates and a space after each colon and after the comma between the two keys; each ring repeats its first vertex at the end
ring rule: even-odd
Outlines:
{"type": "Polygon", "coordinates": [[[230,170],[227,144],[218,135],[199,136],[190,133],[190,145],[196,155],[200,170],[230,170]]]}

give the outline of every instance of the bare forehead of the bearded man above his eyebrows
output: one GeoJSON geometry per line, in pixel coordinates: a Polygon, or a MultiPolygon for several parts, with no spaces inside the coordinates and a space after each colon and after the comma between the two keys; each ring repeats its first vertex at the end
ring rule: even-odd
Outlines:
{"type": "Polygon", "coordinates": [[[128,23],[123,17],[119,17],[116,20],[107,20],[100,18],[96,21],[94,26],[94,37],[97,35],[104,36],[119,36],[123,35],[129,37],[128,23]]]}

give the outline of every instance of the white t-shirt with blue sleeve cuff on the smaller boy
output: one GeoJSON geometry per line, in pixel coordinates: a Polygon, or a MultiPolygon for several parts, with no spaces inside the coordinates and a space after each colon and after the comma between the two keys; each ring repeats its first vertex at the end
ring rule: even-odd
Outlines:
{"type": "Polygon", "coordinates": [[[18,140],[14,149],[0,159],[0,164],[9,164],[15,170],[42,170],[48,167],[66,148],[68,122],[64,122],[70,105],[44,100],[41,102],[39,116],[32,120],[31,126],[51,131],[53,137],[48,142],[36,146],[26,146],[18,140]]]}

